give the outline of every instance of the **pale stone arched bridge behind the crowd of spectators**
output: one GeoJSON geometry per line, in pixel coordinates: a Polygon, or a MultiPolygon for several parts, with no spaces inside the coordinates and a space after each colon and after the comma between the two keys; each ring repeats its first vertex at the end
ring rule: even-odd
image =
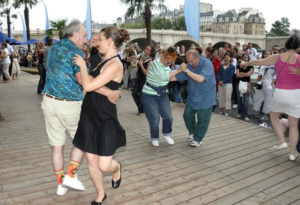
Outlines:
{"type": "MultiPolygon", "coordinates": [[[[129,29],[130,32],[130,42],[124,46],[128,46],[137,42],[141,49],[146,46],[146,29],[129,29]]],[[[99,33],[96,31],[94,33],[99,33]]],[[[93,33],[93,34],[94,34],[93,33]]],[[[45,31],[31,31],[31,37],[34,39],[42,40],[45,36],[45,31]]],[[[164,48],[173,46],[175,43],[184,45],[187,49],[190,48],[192,44],[198,46],[194,38],[190,37],[186,31],[174,31],[174,30],[152,30],[151,31],[152,43],[160,42],[164,48]]],[[[14,31],[13,38],[19,41],[23,41],[23,32],[14,31]]],[[[55,34],[54,38],[58,39],[58,35],[55,34]]],[[[251,35],[233,35],[233,34],[218,34],[218,33],[200,33],[200,47],[205,49],[208,43],[211,43],[214,48],[223,47],[225,42],[231,45],[235,45],[239,42],[242,46],[243,44],[252,43],[253,48],[257,50],[271,49],[273,45],[277,44],[280,48],[284,47],[284,43],[288,37],[264,37],[264,36],[251,36],[251,35]]]]}

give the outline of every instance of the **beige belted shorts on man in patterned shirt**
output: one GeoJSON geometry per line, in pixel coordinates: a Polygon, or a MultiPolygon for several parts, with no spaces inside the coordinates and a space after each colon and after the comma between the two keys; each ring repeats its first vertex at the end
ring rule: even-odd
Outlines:
{"type": "Polygon", "coordinates": [[[45,116],[49,144],[61,146],[66,141],[66,130],[72,139],[77,130],[82,101],[61,101],[44,96],[41,108],[45,116]]]}

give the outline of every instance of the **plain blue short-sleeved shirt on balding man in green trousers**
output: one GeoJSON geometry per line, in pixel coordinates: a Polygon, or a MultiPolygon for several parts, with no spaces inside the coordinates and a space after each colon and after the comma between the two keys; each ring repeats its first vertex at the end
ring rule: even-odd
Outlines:
{"type": "Polygon", "coordinates": [[[176,75],[179,82],[188,80],[187,83],[187,104],[193,109],[206,109],[216,104],[216,80],[213,66],[210,60],[201,57],[196,68],[189,64],[186,65],[191,72],[201,75],[205,80],[198,83],[181,72],[176,75]]]}

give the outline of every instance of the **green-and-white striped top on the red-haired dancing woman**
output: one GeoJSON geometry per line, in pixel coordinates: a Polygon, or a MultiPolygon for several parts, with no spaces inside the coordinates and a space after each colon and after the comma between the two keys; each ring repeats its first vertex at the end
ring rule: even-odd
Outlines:
{"type": "MultiPolygon", "coordinates": [[[[169,66],[164,66],[160,59],[155,59],[149,67],[146,82],[156,87],[165,86],[169,83],[170,72],[171,69],[169,66]]],[[[142,92],[148,95],[157,95],[157,92],[146,84],[144,85],[142,92]]]]}

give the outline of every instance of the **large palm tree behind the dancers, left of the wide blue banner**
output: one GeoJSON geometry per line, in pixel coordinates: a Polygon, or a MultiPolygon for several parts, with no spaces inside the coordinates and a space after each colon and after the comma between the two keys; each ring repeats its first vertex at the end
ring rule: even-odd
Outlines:
{"type": "Polygon", "coordinates": [[[144,19],[147,30],[147,44],[151,44],[151,10],[158,10],[162,12],[167,12],[168,7],[164,4],[165,0],[120,0],[121,4],[129,6],[125,19],[139,15],[138,19],[144,19]],[[156,5],[156,3],[158,3],[156,5]]]}

